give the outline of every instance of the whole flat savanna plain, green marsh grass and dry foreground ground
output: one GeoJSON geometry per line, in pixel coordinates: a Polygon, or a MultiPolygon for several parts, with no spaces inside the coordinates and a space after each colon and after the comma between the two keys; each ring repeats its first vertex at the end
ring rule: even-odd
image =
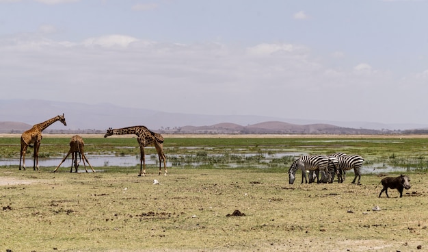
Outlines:
{"type": "MultiPolygon", "coordinates": [[[[81,135],[88,160],[139,156],[133,137],[81,135]]],[[[168,136],[168,175],[154,148],[139,164],[69,173],[0,166],[0,251],[427,251],[428,136],[168,136]],[[289,184],[299,155],[364,157],[361,184],[289,184]],[[399,198],[383,177],[410,176],[399,198]],[[154,184],[154,180],[159,184],[154,184]]],[[[40,159],[68,152],[44,134],[40,159]]],[[[19,160],[19,136],[0,136],[0,161],[19,160]]],[[[68,157],[70,160],[70,157],[68,157]]],[[[83,163],[79,171],[84,171],[83,163]]]]}

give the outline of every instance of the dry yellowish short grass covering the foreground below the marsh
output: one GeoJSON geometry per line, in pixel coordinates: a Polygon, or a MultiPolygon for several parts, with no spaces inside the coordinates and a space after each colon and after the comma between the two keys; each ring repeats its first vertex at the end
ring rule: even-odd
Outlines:
{"type": "Polygon", "coordinates": [[[256,169],[170,175],[2,168],[0,251],[416,251],[428,248],[428,175],[403,198],[362,185],[288,184],[256,169]],[[158,179],[160,185],[153,185],[158,179]],[[12,183],[13,181],[13,183],[12,183]],[[19,184],[17,181],[23,181],[19,184]],[[378,205],[381,211],[372,211],[378,205]],[[245,216],[227,216],[239,210],[245,216]]]}

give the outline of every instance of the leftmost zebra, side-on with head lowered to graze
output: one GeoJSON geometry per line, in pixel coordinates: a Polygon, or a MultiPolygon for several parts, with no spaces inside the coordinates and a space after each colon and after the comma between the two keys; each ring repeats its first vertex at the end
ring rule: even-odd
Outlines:
{"type": "MultiPolygon", "coordinates": [[[[328,172],[328,157],[323,155],[304,155],[299,157],[297,160],[291,164],[289,168],[289,183],[293,184],[295,181],[296,171],[300,169],[302,170],[302,184],[303,179],[308,183],[306,179],[306,170],[315,171],[319,169],[322,175],[322,181],[325,181],[325,177],[327,177],[327,181],[330,181],[330,173],[328,172]]],[[[309,177],[309,181],[312,180],[312,177],[309,177]]]]}

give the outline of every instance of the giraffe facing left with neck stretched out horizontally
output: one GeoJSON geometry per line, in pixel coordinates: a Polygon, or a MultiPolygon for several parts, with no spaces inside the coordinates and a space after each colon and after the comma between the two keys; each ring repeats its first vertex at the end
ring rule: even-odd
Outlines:
{"type": "Polygon", "coordinates": [[[165,163],[165,154],[163,153],[163,136],[159,133],[150,131],[146,126],[133,126],[125,127],[122,129],[107,129],[107,133],[104,135],[105,138],[111,135],[127,135],[135,134],[137,136],[137,141],[139,144],[139,174],[146,175],[146,158],[144,157],[144,147],[147,147],[151,144],[155,145],[157,155],[159,156],[159,175],[161,175],[161,163],[163,162],[163,168],[166,171],[165,163]]]}

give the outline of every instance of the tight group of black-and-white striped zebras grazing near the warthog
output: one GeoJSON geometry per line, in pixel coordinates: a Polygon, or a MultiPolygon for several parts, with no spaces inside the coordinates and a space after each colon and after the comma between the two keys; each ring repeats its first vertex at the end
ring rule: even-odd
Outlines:
{"type": "Polygon", "coordinates": [[[357,177],[357,183],[360,184],[362,162],[364,159],[360,155],[347,155],[343,152],[330,155],[304,155],[291,164],[289,183],[294,183],[296,171],[299,169],[302,171],[302,184],[304,179],[305,183],[308,183],[306,171],[309,171],[309,183],[314,182],[315,177],[317,177],[317,183],[332,183],[335,175],[338,177],[338,183],[342,183],[345,180],[346,171],[353,169],[355,177],[352,184],[356,182],[357,177]]]}

